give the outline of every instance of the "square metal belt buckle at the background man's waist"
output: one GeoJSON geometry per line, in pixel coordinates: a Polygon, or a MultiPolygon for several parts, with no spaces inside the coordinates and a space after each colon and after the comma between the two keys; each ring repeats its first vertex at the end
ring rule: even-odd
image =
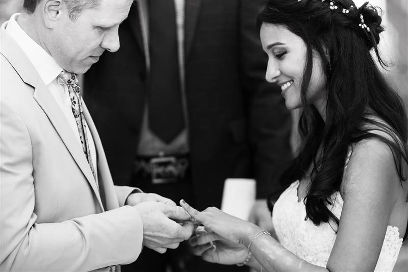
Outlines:
{"type": "Polygon", "coordinates": [[[175,157],[158,157],[150,159],[151,183],[164,184],[177,182],[178,172],[175,157]]]}

